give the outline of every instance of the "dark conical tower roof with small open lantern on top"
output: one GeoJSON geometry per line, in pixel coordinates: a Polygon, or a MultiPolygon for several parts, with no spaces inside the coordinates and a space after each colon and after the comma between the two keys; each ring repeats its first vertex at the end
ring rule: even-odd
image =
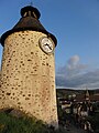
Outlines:
{"type": "Polygon", "coordinates": [[[2,45],[4,45],[4,40],[6,38],[8,38],[8,35],[10,35],[13,32],[24,31],[24,30],[43,32],[48,37],[51,37],[54,43],[57,44],[56,38],[52,33],[47,32],[45,28],[41,24],[38,20],[41,13],[36,8],[32,6],[24,7],[21,9],[21,16],[22,18],[19,20],[19,22],[11,30],[7,31],[1,35],[0,42],[2,45]]]}

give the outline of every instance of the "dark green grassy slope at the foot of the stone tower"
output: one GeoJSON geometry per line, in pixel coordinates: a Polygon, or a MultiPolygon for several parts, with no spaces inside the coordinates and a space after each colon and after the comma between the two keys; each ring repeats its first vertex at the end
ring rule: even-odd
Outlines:
{"type": "Polygon", "coordinates": [[[23,115],[16,117],[10,113],[0,112],[0,133],[64,133],[62,129],[55,131],[35,117],[23,115]]]}

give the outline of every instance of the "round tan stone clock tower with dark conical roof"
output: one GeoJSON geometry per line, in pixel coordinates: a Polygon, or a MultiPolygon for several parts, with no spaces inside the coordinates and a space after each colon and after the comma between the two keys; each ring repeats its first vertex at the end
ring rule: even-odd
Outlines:
{"type": "Polygon", "coordinates": [[[54,65],[57,41],[38,21],[36,8],[24,7],[21,16],[13,29],[1,37],[0,109],[19,109],[57,127],[54,65]]]}

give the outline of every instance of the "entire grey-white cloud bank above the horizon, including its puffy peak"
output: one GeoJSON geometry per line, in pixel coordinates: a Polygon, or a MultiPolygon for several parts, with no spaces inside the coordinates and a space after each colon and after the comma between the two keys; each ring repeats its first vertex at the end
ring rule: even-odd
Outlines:
{"type": "Polygon", "coordinates": [[[98,88],[99,70],[88,71],[87,64],[79,63],[78,55],[72,57],[67,64],[59,68],[56,72],[56,85],[66,88],[98,88]]]}

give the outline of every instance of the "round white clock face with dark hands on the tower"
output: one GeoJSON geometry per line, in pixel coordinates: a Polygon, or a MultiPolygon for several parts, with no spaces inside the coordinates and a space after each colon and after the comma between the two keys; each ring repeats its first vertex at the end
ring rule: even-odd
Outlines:
{"type": "Polygon", "coordinates": [[[40,47],[45,53],[53,53],[55,44],[51,38],[43,37],[40,39],[40,47]]]}

